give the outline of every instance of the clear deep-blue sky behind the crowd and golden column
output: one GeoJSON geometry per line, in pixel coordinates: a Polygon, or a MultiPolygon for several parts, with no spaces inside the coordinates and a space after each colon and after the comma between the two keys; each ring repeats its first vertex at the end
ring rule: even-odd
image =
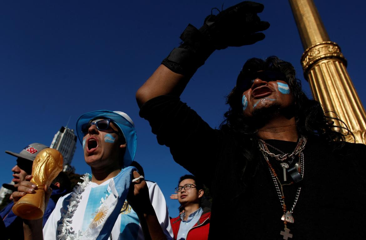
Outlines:
{"type": "MultiPolygon", "coordinates": [[[[188,25],[202,25],[213,7],[236,0],[206,1],[1,1],[0,79],[3,137],[0,182],[12,179],[15,157],[29,143],[51,144],[70,118],[92,110],[120,110],[134,120],[138,132],[135,160],[146,179],[162,189],[172,216],[179,203],[169,199],[179,176],[165,146],[157,144],[147,121],[138,116],[135,92],[161,60],[179,45],[188,25]]],[[[288,1],[261,1],[259,15],[270,22],[265,40],[255,45],[216,51],[182,94],[210,126],[217,127],[227,110],[225,96],[234,87],[243,63],[251,57],[277,55],[290,61],[310,96],[300,57],[303,48],[288,1]]],[[[365,90],[365,1],[315,0],[331,41],[348,60],[348,73],[363,104],[365,90]]],[[[72,165],[76,173],[90,172],[78,143],[72,165]]],[[[229,183],[228,183],[229,184],[229,183]]],[[[221,190],[225,191],[225,190],[221,190]]]]}

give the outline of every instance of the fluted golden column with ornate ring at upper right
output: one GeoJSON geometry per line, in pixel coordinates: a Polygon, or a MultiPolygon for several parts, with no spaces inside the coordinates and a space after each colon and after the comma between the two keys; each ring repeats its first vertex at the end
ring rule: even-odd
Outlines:
{"type": "MultiPolygon", "coordinates": [[[[346,70],[347,60],[340,47],[329,41],[313,0],[289,1],[305,49],[301,57],[304,76],[314,99],[325,111],[336,111],[354,133],[356,143],[366,144],[366,113],[346,70]]],[[[353,138],[348,136],[347,141],[353,142],[353,138]]]]}

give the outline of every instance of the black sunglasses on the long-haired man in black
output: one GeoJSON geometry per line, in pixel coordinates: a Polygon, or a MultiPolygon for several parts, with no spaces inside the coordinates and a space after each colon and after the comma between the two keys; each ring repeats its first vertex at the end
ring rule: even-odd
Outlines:
{"type": "Polygon", "coordinates": [[[241,92],[244,92],[251,88],[255,79],[261,79],[265,82],[276,81],[276,80],[286,80],[286,75],[282,72],[276,71],[259,71],[253,74],[244,74],[240,72],[238,80],[236,80],[236,88],[241,92]]]}

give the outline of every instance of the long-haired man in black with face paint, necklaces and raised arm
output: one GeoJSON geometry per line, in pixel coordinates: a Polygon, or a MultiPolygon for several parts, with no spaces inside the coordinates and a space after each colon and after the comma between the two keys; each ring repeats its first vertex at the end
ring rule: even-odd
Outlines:
{"type": "Polygon", "coordinates": [[[290,63],[248,60],[218,130],[179,99],[214,50],[264,38],[262,10],[242,2],[188,25],[138,90],[140,115],[209,187],[209,239],[365,239],[366,146],[344,141],[350,132],[306,97],[290,63]]]}

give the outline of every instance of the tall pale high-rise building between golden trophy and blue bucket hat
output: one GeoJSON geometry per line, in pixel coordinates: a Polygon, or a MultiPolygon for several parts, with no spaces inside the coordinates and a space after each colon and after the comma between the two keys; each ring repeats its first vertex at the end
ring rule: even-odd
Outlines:
{"type": "Polygon", "coordinates": [[[60,151],[64,157],[63,171],[75,171],[75,168],[71,166],[71,160],[76,149],[76,139],[73,129],[61,127],[52,140],[50,147],[60,151]]]}

